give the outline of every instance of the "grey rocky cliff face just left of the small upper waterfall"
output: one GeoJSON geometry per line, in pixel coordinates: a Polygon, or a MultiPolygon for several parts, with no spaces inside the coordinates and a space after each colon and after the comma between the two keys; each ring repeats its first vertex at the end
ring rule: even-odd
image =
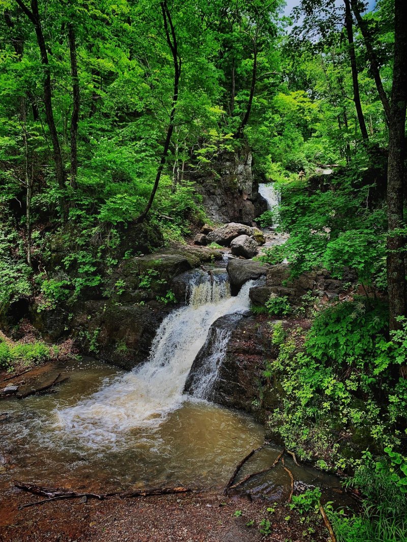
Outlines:
{"type": "Polygon", "coordinates": [[[248,147],[239,152],[220,154],[212,170],[190,171],[202,195],[203,205],[214,222],[240,222],[251,225],[267,210],[258,193],[258,182],[252,172],[252,154],[248,147]]]}

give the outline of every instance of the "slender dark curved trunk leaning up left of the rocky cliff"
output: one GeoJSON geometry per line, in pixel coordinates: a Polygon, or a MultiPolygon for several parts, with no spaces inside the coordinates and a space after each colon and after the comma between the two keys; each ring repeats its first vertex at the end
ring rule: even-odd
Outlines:
{"type": "Polygon", "coordinates": [[[166,164],[168,149],[171,142],[171,136],[173,135],[173,132],[174,132],[175,108],[176,108],[176,103],[178,100],[178,88],[179,88],[180,75],[181,75],[181,59],[178,56],[177,39],[176,39],[175,29],[173,25],[173,20],[171,19],[171,14],[167,6],[167,0],[164,0],[164,2],[161,2],[160,5],[161,5],[162,16],[163,16],[163,22],[164,22],[164,30],[166,31],[167,43],[171,50],[171,53],[173,54],[174,93],[173,93],[173,101],[171,105],[171,112],[170,112],[170,118],[169,118],[168,129],[167,129],[167,137],[164,142],[164,149],[161,155],[160,165],[158,166],[157,175],[154,181],[154,186],[152,188],[149,201],[147,205],[145,206],[144,211],[136,219],[137,224],[145,220],[145,218],[148,215],[149,210],[151,209],[152,202],[154,202],[154,197],[157,192],[158,184],[160,183],[161,173],[164,169],[164,165],[166,164]]]}

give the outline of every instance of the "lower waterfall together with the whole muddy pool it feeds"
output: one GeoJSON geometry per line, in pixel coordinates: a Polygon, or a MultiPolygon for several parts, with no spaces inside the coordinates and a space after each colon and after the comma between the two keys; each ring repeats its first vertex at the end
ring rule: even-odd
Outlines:
{"type": "MultiPolygon", "coordinates": [[[[194,397],[183,389],[209,327],[249,308],[252,282],[231,296],[225,272],[212,280],[203,276],[190,283],[188,304],[163,320],[141,367],[124,373],[83,359],[53,367],[69,376],[55,393],[3,401],[0,487],[13,478],[94,492],[224,487],[242,457],[264,442],[262,425],[250,416],[205,400],[226,350],[226,331],[219,331],[194,397]]],[[[268,467],[277,454],[265,448],[241,476],[268,467]]],[[[339,486],[332,476],[287,462],[297,480],[339,486]]],[[[255,479],[248,487],[253,495],[276,500],[289,491],[289,481],[276,468],[266,481],[255,479]]]]}

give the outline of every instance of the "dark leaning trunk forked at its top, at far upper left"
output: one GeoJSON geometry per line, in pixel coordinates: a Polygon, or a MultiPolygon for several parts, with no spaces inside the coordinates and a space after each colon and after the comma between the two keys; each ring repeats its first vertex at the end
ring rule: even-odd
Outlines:
{"type": "Polygon", "coordinates": [[[48,61],[47,47],[44,40],[44,35],[42,32],[42,25],[40,20],[40,13],[38,9],[38,1],[31,0],[31,10],[29,10],[22,2],[22,0],[16,0],[18,6],[27,15],[29,20],[34,26],[35,34],[37,37],[37,44],[40,49],[41,62],[44,69],[44,107],[45,107],[45,116],[47,119],[47,124],[49,128],[49,133],[51,136],[53,155],[55,162],[55,175],[58,185],[61,189],[65,188],[65,167],[63,166],[61,147],[58,139],[58,132],[56,131],[54,112],[52,107],[52,88],[51,88],[51,72],[48,61]]]}

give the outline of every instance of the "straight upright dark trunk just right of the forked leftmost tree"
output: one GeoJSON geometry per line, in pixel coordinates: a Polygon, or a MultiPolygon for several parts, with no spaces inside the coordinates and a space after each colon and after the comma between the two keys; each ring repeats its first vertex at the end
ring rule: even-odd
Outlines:
{"type": "Polygon", "coordinates": [[[77,44],[72,22],[68,24],[69,56],[71,59],[73,109],[71,117],[71,186],[77,188],[78,175],[78,122],[80,110],[77,44]]]}

